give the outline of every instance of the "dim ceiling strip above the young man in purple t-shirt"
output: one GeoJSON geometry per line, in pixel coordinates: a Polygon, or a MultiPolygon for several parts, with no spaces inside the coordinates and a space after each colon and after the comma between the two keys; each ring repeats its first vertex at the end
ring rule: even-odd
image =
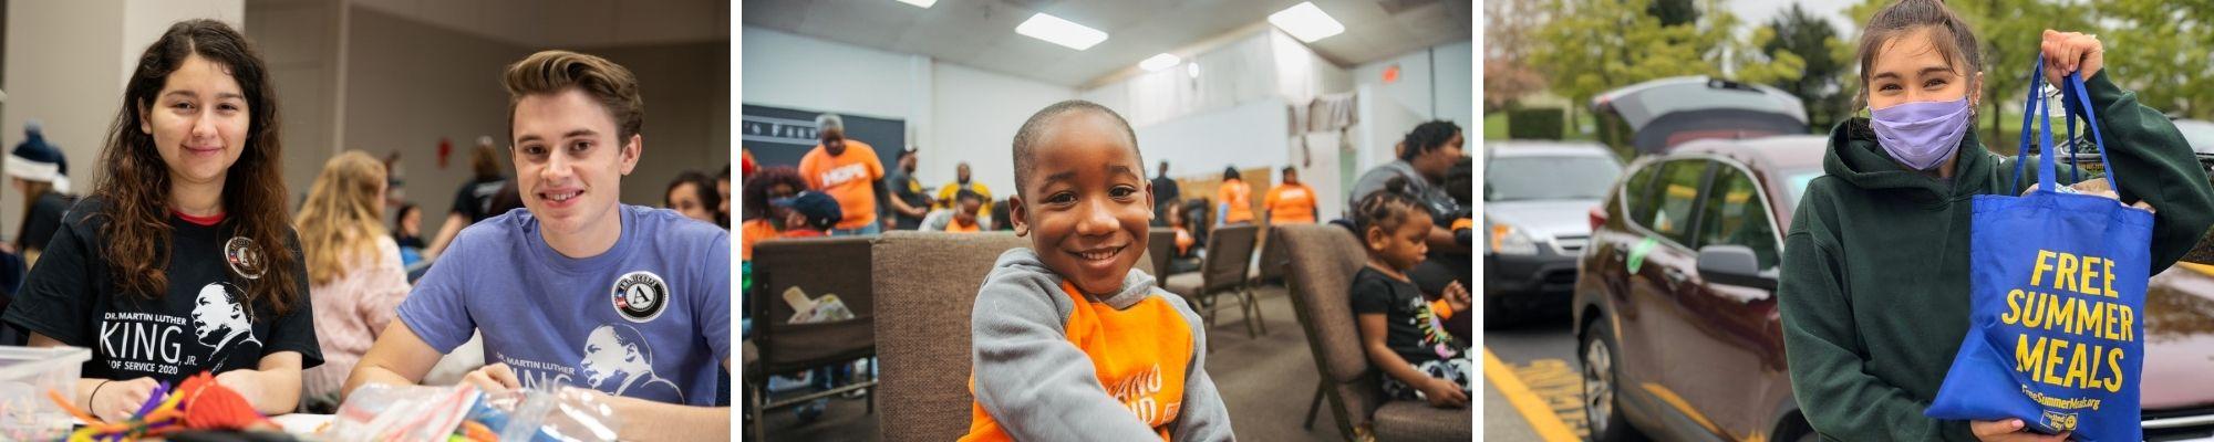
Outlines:
{"type": "Polygon", "coordinates": [[[731,40],[728,0],[350,0],[534,49],[731,40]]]}

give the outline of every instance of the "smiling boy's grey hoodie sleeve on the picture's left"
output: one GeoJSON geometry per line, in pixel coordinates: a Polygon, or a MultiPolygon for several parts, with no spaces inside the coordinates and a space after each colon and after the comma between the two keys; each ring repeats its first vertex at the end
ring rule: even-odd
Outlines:
{"type": "Polygon", "coordinates": [[[1092,358],[1069,345],[1063,320],[1074,305],[1058,278],[1034,263],[1030,250],[1010,250],[976,292],[970,312],[976,404],[1014,440],[1160,438],[1107,396],[1092,358]]]}

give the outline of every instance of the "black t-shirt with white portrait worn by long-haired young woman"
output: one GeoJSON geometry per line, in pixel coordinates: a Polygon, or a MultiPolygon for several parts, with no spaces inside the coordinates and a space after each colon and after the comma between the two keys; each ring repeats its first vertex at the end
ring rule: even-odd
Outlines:
{"type": "MultiPolygon", "coordinates": [[[[100,234],[108,217],[97,212],[100,199],[69,210],[0,320],[62,345],[91,347],[84,378],[179,382],[199,371],[257,369],[261,356],[277,351],[299,351],[301,369],[323,365],[301,259],[292,261],[299,274],[292,312],[277,314],[266,301],[241,307],[255,283],[248,274],[266,272],[259,254],[270,250],[232,234],[230,219],[197,225],[170,214],[168,292],[162,298],[124,294],[100,234]]],[[[283,252],[299,256],[299,236],[288,236],[283,252]]]]}

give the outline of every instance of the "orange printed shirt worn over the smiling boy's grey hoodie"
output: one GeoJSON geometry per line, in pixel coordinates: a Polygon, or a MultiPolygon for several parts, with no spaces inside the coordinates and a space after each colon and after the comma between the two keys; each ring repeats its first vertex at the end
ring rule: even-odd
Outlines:
{"type": "MultiPolygon", "coordinates": [[[[1184,369],[1191,365],[1191,351],[1198,349],[1191,340],[1191,323],[1184,323],[1184,316],[1167,298],[1160,298],[1162,292],[1129,309],[1094,303],[1069,281],[1061,281],[1061,292],[1076,301],[1076,309],[1069,312],[1063,327],[1069,345],[1092,358],[1092,371],[1098,373],[1100,387],[1107,387],[1107,396],[1153,427],[1160,440],[1169,440],[1169,424],[1184,409],[1184,369]]],[[[970,391],[974,389],[976,380],[972,378],[970,391]]],[[[999,420],[992,420],[992,413],[983,411],[983,404],[970,400],[970,433],[961,440],[1012,438],[999,427],[999,420]]]]}

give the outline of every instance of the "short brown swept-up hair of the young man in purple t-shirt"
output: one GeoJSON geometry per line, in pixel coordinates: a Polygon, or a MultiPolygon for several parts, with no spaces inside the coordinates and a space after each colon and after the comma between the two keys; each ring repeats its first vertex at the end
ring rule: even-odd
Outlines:
{"type": "Polygon", "coordinates": [[[538,51],[523,62],[507,64],[500,84],[507,86],[509,139],[516,135],[516,102],[523,102],[525,95],[549,95],[567,88],[580,88],[607,106],[607,115],[615,117],[615,139],[629,139],[646,124],[646,99],[638,95],[638,75],[604,57],[538,51]]]}

